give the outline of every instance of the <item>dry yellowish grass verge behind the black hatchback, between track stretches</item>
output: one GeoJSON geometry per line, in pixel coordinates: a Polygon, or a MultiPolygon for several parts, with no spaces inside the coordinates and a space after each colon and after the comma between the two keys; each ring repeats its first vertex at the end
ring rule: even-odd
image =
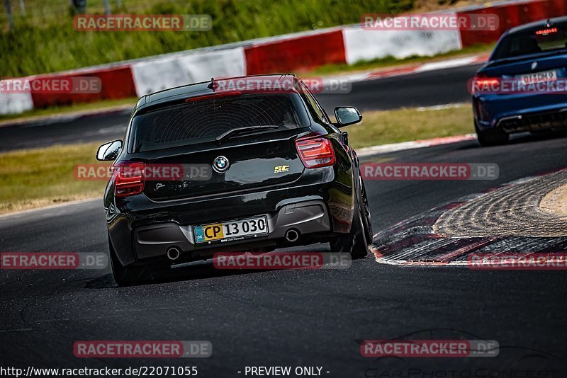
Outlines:
{"type": "MultiPolygon", "coordinates": [[[[364,112],[345,127],[354,148],[472,132],[468,105],[364,112]]],[[[0,214],[102,197],[106,181],[79,181],[75,164],[97,163],[99,143],[57,145],[0,154],[0,214]]]]}

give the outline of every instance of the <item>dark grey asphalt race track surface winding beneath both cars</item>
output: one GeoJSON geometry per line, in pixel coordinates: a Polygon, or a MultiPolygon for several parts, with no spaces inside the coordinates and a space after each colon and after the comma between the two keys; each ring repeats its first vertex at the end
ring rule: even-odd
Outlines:
{"type": "MultiPolygon", "coordinates": [[[[437,71],[359,83],[344,101],[363,110],[466,101],[466,90],[454,83],[464,83],[475,69],[443,71],[444,80],[437,71]],[[397,91],[393,87],[400,82],[406,87],[397,91]]],[[[327,107],[342,100],[322,98],[327,107]]],[[[126,118],[113,114],[38,125],[37,139],[23,138],[22,132],[30,132],[23,127],[2,127],[0,138],[15,148],[112,139],[120,137],[126,118]],[[110,129],[96,134],[101,120],[110,129]]],[[[366,181],[374,232],[458,198],[565,168],[566,143],[565,135],[521,135],[501,147],[466,141],[366,156],[364,161],[500,168],[492,181],[366,181]]],[[[5,252],[106,252],[101,200],[0,217],[0,245],[5,252]]],[[[307,249],[318,248],[327,246],[307,249]]],[[[204,265],[178,269],[170,282],[125,288],[116,287],[110,268],[1,270],[0,365],[196,366],[198,377],[245,377],[247,366],[310,366],[333,378],[561,378],[567,377],[564,274],[386,265],[371,254],[344,270],[219,273],[204,265]],[[410,336],[496,340],[500,348],[495,357],[361,356],[361,340],[410,336]],[[213,355],[82,359],[73,354],[77,340],[208,340],[213,355]]]]}

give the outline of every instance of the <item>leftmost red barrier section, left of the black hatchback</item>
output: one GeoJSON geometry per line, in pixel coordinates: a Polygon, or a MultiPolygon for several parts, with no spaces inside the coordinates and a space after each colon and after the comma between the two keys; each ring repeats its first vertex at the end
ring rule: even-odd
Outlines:
{"type": "Polygon", "coordinates": [[[73,74],[49,74],[34,76],[34,79],[69,79],[73,77],[96,77],[101,80],[98,93],[32,93],[33,107],[46,108],[71,103],[128,98],[136,96],[136,87],[130,66],[113,67],[96,71],[80,71],[73,74]]]}

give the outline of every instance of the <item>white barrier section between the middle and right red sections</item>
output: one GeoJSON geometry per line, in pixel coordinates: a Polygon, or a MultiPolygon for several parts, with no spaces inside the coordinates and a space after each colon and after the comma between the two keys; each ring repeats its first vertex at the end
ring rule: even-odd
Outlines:
{"type": "Polygon", "coordinates": [[[360,60],[393,56],[398,59],[412,55],[436,55],[461,50],[459,30],[364,30],[344,28],[347,64],[360,60]]]}

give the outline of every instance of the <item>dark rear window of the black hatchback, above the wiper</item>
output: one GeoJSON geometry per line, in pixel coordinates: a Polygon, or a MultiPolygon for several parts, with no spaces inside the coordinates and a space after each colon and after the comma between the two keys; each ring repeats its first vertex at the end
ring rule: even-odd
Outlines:
{"type": "Polygon", "coordinates": [[[310,125],[296,93],[206,98],[136,115],[132,122],[133,152],[211,142],[237,127],[280,126],[259,131],[268,133],[310,125]]]}

